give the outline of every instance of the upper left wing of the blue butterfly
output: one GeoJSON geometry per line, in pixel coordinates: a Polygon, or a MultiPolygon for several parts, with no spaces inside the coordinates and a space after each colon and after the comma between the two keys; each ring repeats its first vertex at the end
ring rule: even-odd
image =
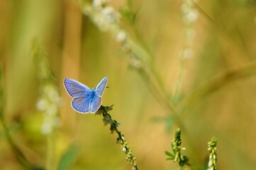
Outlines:
{"type": "Polygon", "coordinates": [[[85,86],[82,83],[79,83],[78,81],[75,81],[73,79],[64,79],[64,86],[72,98],[78,98],[80,96],[87,96],[91,89],[89,87],[85,86]]]}

